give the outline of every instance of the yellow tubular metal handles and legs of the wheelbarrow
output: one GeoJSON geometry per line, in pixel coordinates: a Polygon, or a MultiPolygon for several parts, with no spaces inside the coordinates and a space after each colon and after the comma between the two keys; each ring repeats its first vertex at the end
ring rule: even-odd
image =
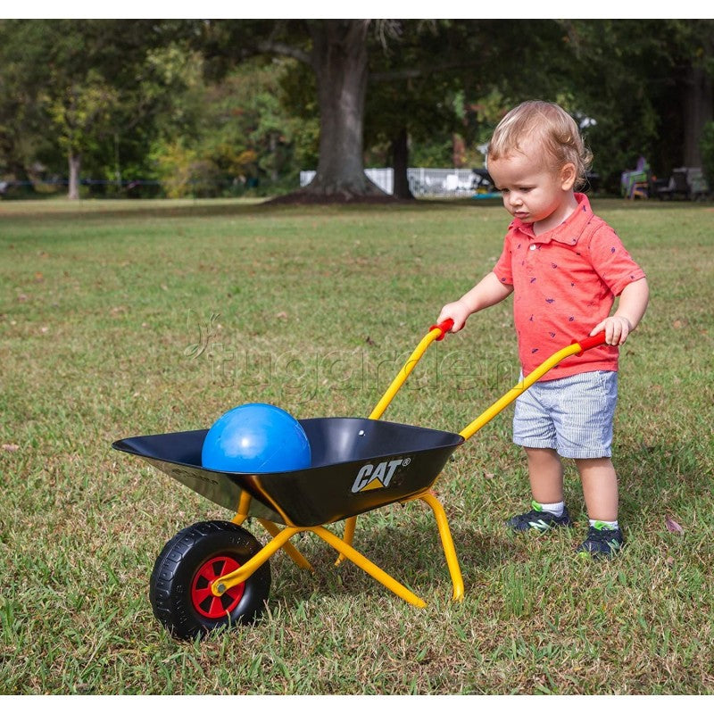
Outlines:
{"type": "MultiPolygon", "coordinates": [[[[425,336],[421,342],[419,342],[417,348],[413,353],[411,353],[410,358],[404,364],[403,369],[400,370],[390,386],[387,388],[384,396],[379,400],[377,406],[369,414],[369,419],[381,418],[386,411],[386,408],[394,399],[394,395],[400,390],[406,379],[411,374],[411,370],[414,369],[424,353],[427,351],[428,346],[431,345],[436,339],[440,339],[442,336],[444,336],[444,330],[442,328],[436,327],[429,330],[428,335],[425,336]]],[[[469,426],[462,429],[460,435],[463,436],[465,440],[469,439],[471,436],[476,434],[480,428],[486,426],[491,419],[494,419],[494,417],[503,411],[511,402],[517,399],[520,394],[523,394],[529,386],[533,385],[538,379],[543,377],[547,371],[555,367],[555,365],[564,360],[566,357],[580,352],[582,352],[582,348],[576,343],[553,354],[552,357],[544,361],[543,364],[531,372],[527,378],[522,379],[519,384],[512,387],[509,392],[501,397],[501,399],[494,402],[488,409],[486,409],[486,411],[478,416],[477,419],[474,419],[469,426]]],[[[463,578],[461,577],[461,568],[459,567],[459,560],[453,546],[451,530],[446,519],[444,507],[431,490],[428,490],[423,494],[411,496],[411,498],[406,499],[404,502],[408,501],[425,502],[433,512],[434,519],[436,520],[436,528],[441,538],[446,566],[452,579],[452,599],[454,601],[462,600],[464,596],[463,578]]],[[[243,494],[241,494],[240,502],[238,503],[236,517],[233,519],[233,522],[237,525],[242,524],[245,519],[248,518],[250,502],[250,494],[247,494],[244,491],[243,494]]],[[[338,537],[323,526],[286,526],[280,528],[270,520],[257,520],[272,536],[272,539],[268,544],[262,547],[261,551],[257,552],[253,558],[245,562],[240,568],[216,579],[212,583],[212,593],[214,595],[223,594],[231,587],[247,580],[248,577],[251,577],[263,563],[269,560],[270,557],[280,549],[284,550],[286,554],[295,561],[295,564],[299,568],[311,570],[312,566],[310,562],[295,548],[293,544],[290,543],[290,539],[294,535],[308,531],[320,537],[325,543],[339,553],[335,565],[340,565],[344,560],[350,560],[354,563],[354,565],[364,570],[371,577],[374,577],[375,580],[384,585],[388,590],[391,590],[394,594],[401,597],[405,602],[409,602],[411,605],[419,608],[426,607],[427,603],[424,602],[419,596],[413,594],[409,588],[402,585],[400,582],[395,580],[394,577],[388,575],[375,563],[362,555],[361,552],[358,552],[353,548],[353,539],[357,524],[356,516],[345,519],[345,529],[342,538],[338,537]]]]}

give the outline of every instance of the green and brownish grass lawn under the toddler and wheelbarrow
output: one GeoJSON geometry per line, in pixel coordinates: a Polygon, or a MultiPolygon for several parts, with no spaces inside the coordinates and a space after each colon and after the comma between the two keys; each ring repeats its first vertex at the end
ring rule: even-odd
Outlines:
{"type": "MultiPolygon", "coordinates": [[[[361,517],[355,545],[426,610],[303,535],[314,574],[274,556],[257,626],[179,643],[154,619],[163,544],[232,514],[112,441],[247,401],[366,416],[493,266],[508,217],[475,203],[0,203],[0,694],[714,693],[711,204],[594,202],[652,290],[621,363],[618,560],[574,556],[571,467],[577,527],[504,531],[528,500],[507,411],[436,483],[463,602],[415,503],[361,517]]],[[[458,431],[515,381],[515,356],[507,301],[432,346],[386,418],[458,431]]]]}

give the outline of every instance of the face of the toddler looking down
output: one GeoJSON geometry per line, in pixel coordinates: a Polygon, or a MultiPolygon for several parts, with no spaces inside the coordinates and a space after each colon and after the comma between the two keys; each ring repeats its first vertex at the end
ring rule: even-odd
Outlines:
{"type": "Polygon", "coordinates": [[[488,162],[488,172],[502,192],[503,205],[511,216],[550,229],[573,210],[575,167],[568,163],[554,169],[540,158],[542,155],[526,145],[523,152],[488,162]]]}

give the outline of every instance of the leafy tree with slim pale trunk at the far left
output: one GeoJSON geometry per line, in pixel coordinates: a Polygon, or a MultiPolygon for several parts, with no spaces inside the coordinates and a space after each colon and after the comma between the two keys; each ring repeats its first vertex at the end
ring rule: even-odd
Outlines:
{"type": "MultiPolygon", "coordinates": [[[[167,105],[170,83],[150,53],[190,29],[184,21],[0,21],[0,60],[21,77],[26,105],[53,126],[53,143],[66,155],[71,198],[79,196],[87,154],[115,157],[121,139],[145,134],[157,108],[167,105]],[[145,125],[137,131],[140,122],[145,125]]],[[[40,122],[30,129],[46,134],[40,122]]]]}

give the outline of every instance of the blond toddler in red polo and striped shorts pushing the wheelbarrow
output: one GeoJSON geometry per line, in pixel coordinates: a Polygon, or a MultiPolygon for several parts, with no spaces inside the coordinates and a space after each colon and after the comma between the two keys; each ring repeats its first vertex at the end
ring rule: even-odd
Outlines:
{"type": "Polygon", "coordinates": [[[494,131],[487,160],[513,220],[494,270],[444,305],[438,321],[451,318],[458,332],[469,315],[512,293],[523,376],[573,340],[604,330],[607,345],[561,361],[516,400],[513,441],[527,454],[532,510],[507,526],[571,525],[560,457],[574,459],[590,519],[577,551],[611,557],[623,544],[610,461],[618,347],[642,320],[647,280],[615,231],[576,193],[592,154],[560,106],[532,101],[512,109],[494,131]]]}

